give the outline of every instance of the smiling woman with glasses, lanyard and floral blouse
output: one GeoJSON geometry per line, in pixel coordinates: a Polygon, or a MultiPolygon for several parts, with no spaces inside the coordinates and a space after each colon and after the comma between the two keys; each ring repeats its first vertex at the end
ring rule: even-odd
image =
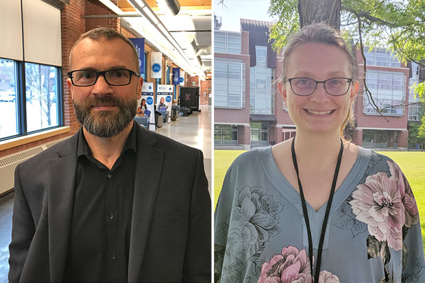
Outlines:
{"type": "Polygon", "coordinates": [[[343,138],[356,65],[324,24],[289,40],[278,88],[296,138],[230,166],[215,210],[216,282],[425,282],[409,183],[343,138]]]}

